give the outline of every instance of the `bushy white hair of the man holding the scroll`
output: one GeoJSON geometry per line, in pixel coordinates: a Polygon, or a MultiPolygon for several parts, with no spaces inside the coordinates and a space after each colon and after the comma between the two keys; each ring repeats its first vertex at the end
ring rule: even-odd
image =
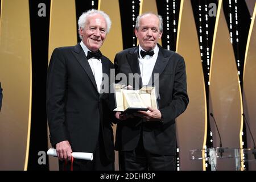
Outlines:
{"type": "MultiPolygon", "coordinates": [[[[100,14],[101,16],[103,16],[103,18],[105,19],[106,21],[106,33],[108,34],[109,31],[110,31],[110,27],[111,27],[111,20],[109,18],[109,15],[107,15],[104,11],[100,11],[100,10],[88,10],[84,13],[82,13],[82,15],[79,17],[79,20],[78,20],[78,25],[79,25],[79,30],[80,28],[84,29],[85,28],[85,23],[87,21],[87,18],[89,15],[94,15],[94,14],[100,14]]],[[[82,40],[82,36],[79,34],[80,36],[80,39],[82,40]]]]}

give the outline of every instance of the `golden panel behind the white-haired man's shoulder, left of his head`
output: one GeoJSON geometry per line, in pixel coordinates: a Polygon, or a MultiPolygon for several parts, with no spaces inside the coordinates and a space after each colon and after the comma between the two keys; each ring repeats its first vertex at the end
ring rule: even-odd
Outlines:
{"type": "MultiPolygon", "coordinates": [[[[77,44],[75,0],[52,0],[49,20],[48,61],[56,47],[77,44]]],[[[49,131],[48,131],[49,134],[49,131]]],[[[48,138],[48,147],[51,147],[48,138]]],[[[49,157],[49,169],[58,170],[57,158],[49,157]]]]}

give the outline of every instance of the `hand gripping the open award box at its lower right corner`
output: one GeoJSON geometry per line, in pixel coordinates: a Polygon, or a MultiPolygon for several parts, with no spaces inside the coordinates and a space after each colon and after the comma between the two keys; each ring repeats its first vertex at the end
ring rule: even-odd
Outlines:
{"type": "Polygon", "coordinates": [[[152,107],[147,107],[147,111],[138,111],[134,114],[135,116],[144,118],[146,121],[161,121],[162,114],[160,110],[153,109],[152,107]]]}

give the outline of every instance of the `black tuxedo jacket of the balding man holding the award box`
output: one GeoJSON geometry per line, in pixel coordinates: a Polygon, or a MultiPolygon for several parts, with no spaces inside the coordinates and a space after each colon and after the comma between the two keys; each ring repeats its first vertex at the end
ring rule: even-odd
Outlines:
{"type": "MultiPolygon", "coordinates": [[[[159,45],[158,45],[159,46],[159,45]]],[[[187,78],[183,57],[159,46],[158,58],[152,72],[159,73],[159,79],[151,85],[159,85],[158,106],[163,122],[142,122],[141,118],[127,119],[117,124],[115,150],[134,150],[143,134],[144,148],[159,155],[175,155],[176,133],[175,118],[188,105],[187,78]]],[[[117,53],[114,60],[115,72],[141,75],[138,63],[138,47],[125,49],[117,53]]],[[[154,78],[154,77],[153,77],[154,78]]],[[[129,81],[127,81],[129,82],[129,81]]],[[[135,80],[133,81],[135,84],[135,80]]],[[[139,79],[139,85],[142,81],[139,79]]]]}

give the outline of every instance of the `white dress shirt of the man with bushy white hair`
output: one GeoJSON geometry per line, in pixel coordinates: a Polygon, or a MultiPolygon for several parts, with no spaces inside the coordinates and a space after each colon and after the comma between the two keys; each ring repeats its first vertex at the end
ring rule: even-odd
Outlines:
{"type": "MultiPolygon", "coordinates": [[[[90,51],[85,44],[81,41],[80,45],[82,47],[82,49],[84,50],[85,56],[87,56],[87,52],[90,51]]],[[[90,51],[92,52],[92,51],[90,51]]],[[[102,84],[102,63],[101,63],[101,59],[94,59],[91,58],[88,60],[88,63],[90,65],[90,69],[92,69],[93,72],[93,76],[94,79],[96,81],[97,84],[97,89],[98,89],[98,93],[100,93],[101,90],[101,84],[102,84]]]]}

